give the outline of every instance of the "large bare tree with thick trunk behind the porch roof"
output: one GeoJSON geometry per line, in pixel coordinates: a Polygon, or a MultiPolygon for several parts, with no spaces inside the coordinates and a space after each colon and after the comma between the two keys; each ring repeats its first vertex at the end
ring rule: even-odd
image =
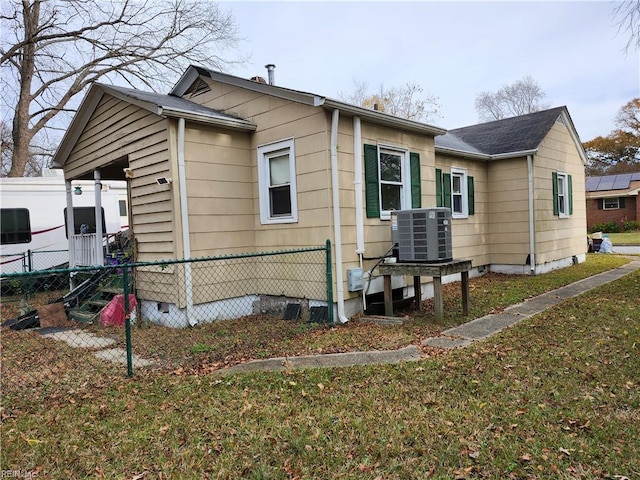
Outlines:
{"type": "Polygon", "coordinates": [[[30,154],[46,153],[43,133],[64,129],[56,119],[90,83],[120,78],[155,90],[188,64],[229,65],[223,54],[238,41],[229,13],[195,0],[11,0],[0,20],[14,177],[30,154]]]}

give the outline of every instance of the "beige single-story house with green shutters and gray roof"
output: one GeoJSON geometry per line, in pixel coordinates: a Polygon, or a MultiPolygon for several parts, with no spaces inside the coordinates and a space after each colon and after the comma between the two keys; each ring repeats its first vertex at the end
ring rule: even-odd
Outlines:
{"type": "MultiPolygon", "coordinates": [[[[68,182],[128,179],[138,261],[330,239],[342,322],[367,300],[349,291],[349,269],[363,269],[367,294],[382,291],[373,267],[391,250],[393,210],[451,208],[453,256],[472,259],[475,274],[583,261],[585,194],[573,185],[584,184],[585,161],[565,107],[446,131],[199,67],[168,95],[93,85],[55,156],[68,182]]],[[[165,273],[172,287],[189,274],[165,273]]],[[[393,285],[409,296],[410,283],[393,285]]],[[[143,304],[187,316],[224,300],[196,285],[185,301],[143,275],[137,286],[143,304]]]]}

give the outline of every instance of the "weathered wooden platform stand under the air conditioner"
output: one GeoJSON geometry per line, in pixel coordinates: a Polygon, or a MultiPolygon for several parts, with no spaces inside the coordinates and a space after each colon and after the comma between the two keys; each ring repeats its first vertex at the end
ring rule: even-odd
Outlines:
{"type": "Polygon", "coordinates": [[[422,287],[420,277],[433,277],[433,299],[435,301],[436,320],[444,318],[442,301],[442,277],[460,273],[462,287],[462,314],[469,315],[469,270],[471,260],[454,259],[444,263],[383,263],[378,267],[384,277],[384,314],[393,316],[393,298],[391,295],[391,276],[413,276],[416,308],[420,310],[422,303],[422,287]]]}

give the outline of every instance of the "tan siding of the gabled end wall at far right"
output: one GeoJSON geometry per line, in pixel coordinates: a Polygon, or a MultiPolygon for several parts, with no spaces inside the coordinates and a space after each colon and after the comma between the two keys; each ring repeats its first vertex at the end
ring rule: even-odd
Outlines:
{"type": "Polygon", "coordinates": [[[561,123],[555,123],[534,157],[536,185],[536,263],[544,264],[586,252],[586,203],[584,165],[573,139],[561,123]],[[553,215],[553,172],[572,176],[573,215],[553,215]]]}

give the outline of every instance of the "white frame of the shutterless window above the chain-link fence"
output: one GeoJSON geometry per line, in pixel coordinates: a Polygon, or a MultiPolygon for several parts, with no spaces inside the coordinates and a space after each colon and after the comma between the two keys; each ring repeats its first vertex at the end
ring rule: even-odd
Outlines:
{"type": "Polygon", "coordinates": [[[258,197],[260,202],[260,223],[264,225],[277,223],[296,223],[298,221],[298,192],[296,187],[296,155],[294,139],[259,145],[258,155],[258,197]],[[270,171],[269,160],[288,153],[289,155],[289,195],[291,196],[290,215],[271,215],[270,207],[270,171]]]}

